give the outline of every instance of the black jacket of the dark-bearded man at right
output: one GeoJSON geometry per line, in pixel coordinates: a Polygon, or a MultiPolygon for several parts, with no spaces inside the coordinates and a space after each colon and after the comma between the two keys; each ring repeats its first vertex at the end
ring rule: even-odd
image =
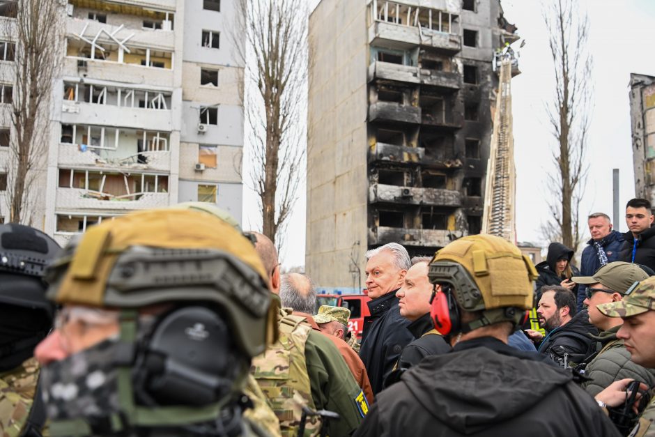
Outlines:
{"type": "Polygon", "coordinates": [[[537,351],[561,366],[564,366],[565,360],[579,363],[589,355],[592,343],[595,343],[592,335],[598,335],[598,330],[589,323],[589,313],[584,309],[569,323],[548,332],[537,351]]]}

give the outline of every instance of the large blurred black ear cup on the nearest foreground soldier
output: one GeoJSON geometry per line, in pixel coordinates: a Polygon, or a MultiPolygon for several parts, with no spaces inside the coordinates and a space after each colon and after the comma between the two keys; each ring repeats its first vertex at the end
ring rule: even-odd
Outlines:
{"type": "Polygon", "coordinates": [[[150,406],[206,406],[229,396],[247,358],[228,326],[222,312],[200,305],[160,316],[137,345],[137,399],[150,406]]]}

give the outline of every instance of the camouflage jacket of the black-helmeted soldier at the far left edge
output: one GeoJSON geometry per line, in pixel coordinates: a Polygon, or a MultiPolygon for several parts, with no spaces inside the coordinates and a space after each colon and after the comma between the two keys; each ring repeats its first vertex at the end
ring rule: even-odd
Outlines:
{"type": "MultiPolygon", "coordinates": [[[[39,367],[34,358],[0,374],[0,427],[3,437],[20,436],[32,407],[39,367]]],[[[47,431],[43,432],[47,436],[47,431]]]]}

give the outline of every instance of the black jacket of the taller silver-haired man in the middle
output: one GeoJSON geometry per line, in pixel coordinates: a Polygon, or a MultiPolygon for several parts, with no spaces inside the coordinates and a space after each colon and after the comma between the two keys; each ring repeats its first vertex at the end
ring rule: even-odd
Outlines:
{"type": "Polygon", "coordinates": [[[409,321],[400,315],[396,291],[368,302],[370,316],[364,318],[360,358],[364,362],[373,394],[383,388],[398,357],[414,336],[406,328],[409,321]]]}

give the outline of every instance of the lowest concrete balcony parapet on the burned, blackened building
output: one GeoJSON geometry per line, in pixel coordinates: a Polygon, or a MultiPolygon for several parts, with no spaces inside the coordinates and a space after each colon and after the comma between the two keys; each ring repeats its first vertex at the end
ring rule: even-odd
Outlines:
{"type": "Polygon", "coordinates": [[[465,231],[441,229],[408,229],[377,227],[369,229],[369,245],[400,243],[403,246],[444,247],[456,238],[468,235],[465,231]]]}

